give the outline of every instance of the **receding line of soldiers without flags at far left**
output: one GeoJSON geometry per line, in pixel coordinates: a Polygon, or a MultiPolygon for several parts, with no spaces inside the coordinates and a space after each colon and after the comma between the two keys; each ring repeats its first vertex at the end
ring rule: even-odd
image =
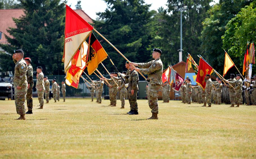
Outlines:
{"type": "MultiPolygon", "coordinates": [[[[24,58],[23,50],[14,50],[12,56],[15,63],[14,68],[14,99],[17,114],[20,115],[17,120],[26,120],[25,114],[33,114],[33,98],[32,98],[32,89],[34,86],[33,82],[33,67],[31,65],[31,59],[29,57],[24,58]],[[27,100],[28,111],[26,112],[25,101],[27,100]]],[[[37,89],[37,95],[39,100],[39,108],[43,109],[44,106],[44,96],[46,98],[46,103],[49,103],[49,93],[50,93],[50,82],[47,77],[44,77],[42,72],[42,67],[38,66],[37,71],[37,82],[35,88],[37,89]]],[[[57,97],[57,83],[53,79],[53,98],[56,102],[57,97]],[[56,85],[56,86],[55,86],[56,85]],[[56,89],[55,89],[56,88],[56,89]]],[[[66,86],[62,82],[62,94],[65,102],[66,95],[66,86]]],[[[58,96],[59,99],[59,96],[58,96]]]]}

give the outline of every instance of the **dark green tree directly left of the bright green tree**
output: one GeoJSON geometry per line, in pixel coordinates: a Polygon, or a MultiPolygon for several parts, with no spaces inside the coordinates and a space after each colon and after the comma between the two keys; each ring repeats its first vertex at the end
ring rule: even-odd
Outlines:
{"type": "Polygon", "coordinates": [[[218,72],[223,71],[225,54],[221,36],[226,31],[226,25],[230,19],[235,17],[241,8],[250,4],[250,2],[250,0],[220,0],[218,4],[215,4],[208,11],[209,17],[203,21],[201,45],[203,56],[218,72]]]}

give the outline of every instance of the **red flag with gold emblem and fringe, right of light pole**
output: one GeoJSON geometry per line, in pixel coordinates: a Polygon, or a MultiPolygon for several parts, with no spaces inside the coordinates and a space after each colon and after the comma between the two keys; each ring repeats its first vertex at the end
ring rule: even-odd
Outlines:
{"type": "Polygon", "coordinates": [[[201,85],[204,90],[205,90],[205,85],[206,85],[205,75],[212,74],[212,72],[213,72],[213,68],[207,62],[205,62],[205,60],[200,58],[198,73],[196,76],[196,83],[201,85]]]}

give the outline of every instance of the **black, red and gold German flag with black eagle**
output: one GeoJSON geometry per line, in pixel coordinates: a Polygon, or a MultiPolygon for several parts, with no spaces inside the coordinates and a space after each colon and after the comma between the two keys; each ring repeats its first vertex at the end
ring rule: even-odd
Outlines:
{"type": "Polygon", "coordinates": [[[89,37],[89,45],[87,50],[87,71],[91,75],[97,68],[100,62],[107,58],[107,53],[104,48],[100,45],[100,42],[93,33],[89,37]]]}

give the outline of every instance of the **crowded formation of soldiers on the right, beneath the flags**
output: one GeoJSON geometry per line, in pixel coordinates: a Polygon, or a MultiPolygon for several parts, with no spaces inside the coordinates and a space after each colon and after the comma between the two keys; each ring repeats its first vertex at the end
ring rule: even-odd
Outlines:
{"type": "Polygon", "coordinates": [[[206,103],[208,107],[211,107],[212,103],[231,104],[230,107],[239,107],[241,104],[256,105],[255,80],[256,75],[242,80],[240,74],[237,74],[236,78],[235,74],[230,74],[228,80],[216,78],[216,81],[212,81],[208,74],[205,77],[206,87],[203,90],[199,85],[191,86],[190,79],[187,78],[181,86],[182,102],[187,104],[190,102],[203,103],[203,107],[206,106],[206,103]]]}

